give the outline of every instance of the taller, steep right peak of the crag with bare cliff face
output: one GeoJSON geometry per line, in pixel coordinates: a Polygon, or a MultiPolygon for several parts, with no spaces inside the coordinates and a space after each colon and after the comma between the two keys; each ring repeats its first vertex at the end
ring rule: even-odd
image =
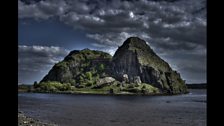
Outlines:
{"type": "Polygon", "coordinates": [[[112,64],[113,76],[119,81],[122,81],[123,75],[127,75],[129,83],[135,83],[138,78],[138,81],[151,84],[162,92],[176,94],[187,91],[180,74],[173,71],[168,63],[138,37],[128,38],[118,48],[112,64]]]}

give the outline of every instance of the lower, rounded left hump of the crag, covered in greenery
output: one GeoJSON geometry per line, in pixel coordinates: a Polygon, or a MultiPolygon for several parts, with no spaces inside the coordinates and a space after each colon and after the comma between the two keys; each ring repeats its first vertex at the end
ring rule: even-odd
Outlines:
{"type": "Polygon", "coordinates": [[[71,51],[63,61],[53,66],[41,82],[58,81],[74,85],[85,81],[85,78],[107,76],[106,71],[110,69],[108,67],[111,58],[111,55],[101,51],[89,49],[71,51]]]}

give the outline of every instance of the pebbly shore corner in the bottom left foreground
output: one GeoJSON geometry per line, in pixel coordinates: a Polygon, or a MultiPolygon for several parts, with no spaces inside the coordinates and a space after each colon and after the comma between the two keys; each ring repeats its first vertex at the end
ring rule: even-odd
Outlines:
{"type": "Polygon", "coordinates": [[[56,124],[49,124],[39,120],[27,117],[23,112],[18,112],[18,126],[58,126],[56,124]]]}

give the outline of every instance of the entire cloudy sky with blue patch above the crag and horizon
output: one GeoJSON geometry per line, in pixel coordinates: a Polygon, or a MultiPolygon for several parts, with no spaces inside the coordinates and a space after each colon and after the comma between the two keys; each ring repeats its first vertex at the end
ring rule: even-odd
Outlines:
{"type": "Polygon", "coordinates": [[[18,0],[18,81],[40,81],[71,50],[114,54],[147,41],[187,83],[206,82],[206,0],[18,0]]]}

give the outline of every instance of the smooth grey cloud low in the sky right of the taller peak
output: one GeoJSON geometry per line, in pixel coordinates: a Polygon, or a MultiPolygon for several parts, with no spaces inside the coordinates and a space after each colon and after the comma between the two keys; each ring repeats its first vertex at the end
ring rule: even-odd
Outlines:
{"type": "Polygon", "coordinates": [[[172,52],[172,54],[162,54],[161,57],[167,61],[171,67],[181,73],[187,83],[206,82],[206,50],[197,49],[188,53],[172,52]]]}

